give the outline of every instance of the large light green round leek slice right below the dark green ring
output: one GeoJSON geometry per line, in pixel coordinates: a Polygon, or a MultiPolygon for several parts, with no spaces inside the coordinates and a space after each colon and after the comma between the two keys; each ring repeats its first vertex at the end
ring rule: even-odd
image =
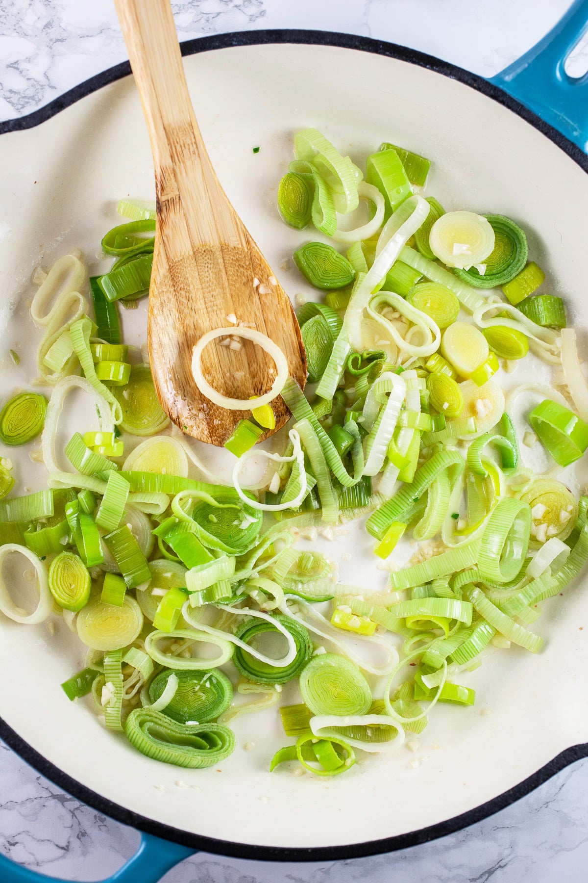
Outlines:
{"type": "Polygon", "coordinates": [[[336,653],[315,656],[300,677],[303,701],[313,714],[342,717],[366,714],[372,703],[371,690],[359,668],[336,653]]]}

